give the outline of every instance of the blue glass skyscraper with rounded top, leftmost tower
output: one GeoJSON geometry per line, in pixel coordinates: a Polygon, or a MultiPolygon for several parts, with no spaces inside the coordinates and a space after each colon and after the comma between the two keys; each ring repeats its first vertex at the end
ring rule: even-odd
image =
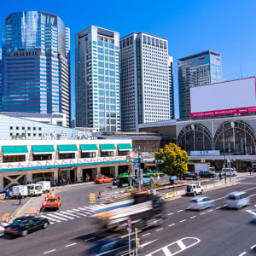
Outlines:
{"type": "Polygon", "coordinates": [[[24,11],[3,26],[4,112],[66,113],[70,123],[70,31],[56,15],[24,11]]]}

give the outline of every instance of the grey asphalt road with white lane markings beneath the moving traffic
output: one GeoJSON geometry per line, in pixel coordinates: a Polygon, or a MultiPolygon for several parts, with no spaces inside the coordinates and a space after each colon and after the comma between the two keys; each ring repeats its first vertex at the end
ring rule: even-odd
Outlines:
{"type": "MultiPolygon", "coordinates": [[[[186,196],[167,201],[164,224],[138,234],[143,248],[140,255],[254,255],[256,225],[250,224],[250,220],[256,212],[255,185],[255,177],[246,177],[232,187],[206,192],[215,200],[215,206],[201,212],[187,209],[191,198],[186,196]],[[226,210],[224,197],[235,190],[247,191],[251,206],[226,210]]],[[[108,186],[62,189],[58,192],[63,201],[61,210],[44,212],[51,221],[49,228],[16,239],[0,236],[1,255],[85,255],[84,251],[104,236],[90,224],[94,207],[89,204],[89,193],[102,189],[105,195],[113,195],[122,191],[108,186]]]]}

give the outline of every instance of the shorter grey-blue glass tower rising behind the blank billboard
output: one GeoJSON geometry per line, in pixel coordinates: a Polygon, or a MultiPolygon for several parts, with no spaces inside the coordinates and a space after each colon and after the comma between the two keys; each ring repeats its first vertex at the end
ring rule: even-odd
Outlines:
{"type": "Polygon", "coordinates": [[[179,118],[190,118],[190,87],[218,83],[222,79],[221,55],[207,50],[177,60],[179,118]]]}

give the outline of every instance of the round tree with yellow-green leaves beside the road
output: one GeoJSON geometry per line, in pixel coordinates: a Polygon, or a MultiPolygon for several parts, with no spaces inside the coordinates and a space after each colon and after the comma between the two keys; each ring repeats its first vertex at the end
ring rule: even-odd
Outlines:
{"type": "Polygon", "coordinates": [[[185,150],[177,147],[174,143],[166,144],[165,148],[160,148],[158,152],[155,152],[154,159],[164,160],[164,164],[159,165],[159,167],[167,175],[182,177],[184,172],[188,172],[189,156],[185,150]]]}

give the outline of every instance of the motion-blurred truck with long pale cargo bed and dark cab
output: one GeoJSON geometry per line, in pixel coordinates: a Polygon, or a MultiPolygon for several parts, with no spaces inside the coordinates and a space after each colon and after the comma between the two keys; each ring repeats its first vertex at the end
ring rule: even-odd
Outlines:
{"type": "Polygon", "coordinates": [[[107,205],[91,215],[92,223],[100,230],[126,230],[127,219],[139,229],[160,225],[163,221],[163,202],[158,195],[133,195],[130,201],[107,205]]]}

